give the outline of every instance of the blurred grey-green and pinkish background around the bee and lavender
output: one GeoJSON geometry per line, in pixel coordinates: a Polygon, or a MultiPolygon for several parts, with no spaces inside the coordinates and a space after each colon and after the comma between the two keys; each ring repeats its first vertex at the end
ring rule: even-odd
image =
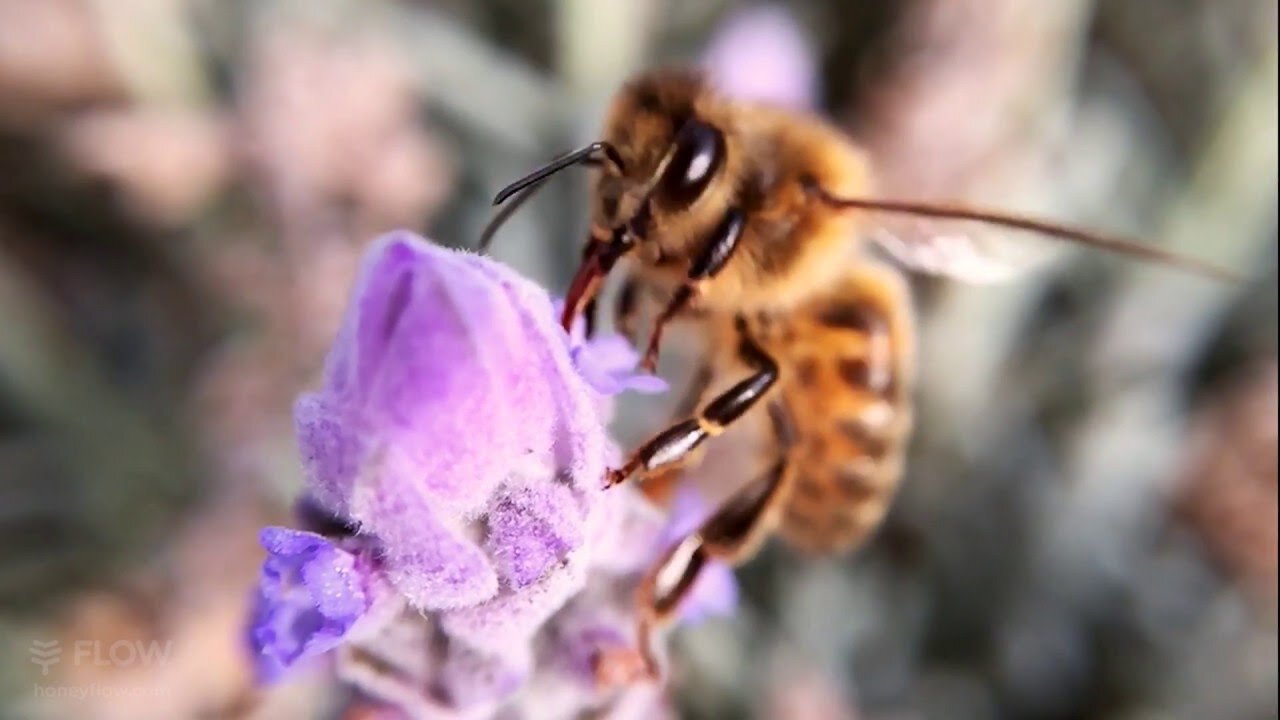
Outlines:
{"type": "MultiPolygon", "coordinates": [[[[681,716],[1275,717],[1276,20],[1274,0],[0,0],[0,717],[335,717],[319,678],[241,707],[241,625],[360,254],[398,227],[474,246],[495,190],[671,61],[828,115],[899,196],[1247,274],[1060,249],[998,286],[916,278],[888,523],[854,556],[745,566],[739,614],[673,638],[681,716]]],[[[494,251],[559,292],[586,224],[570,176],[494,251]]],[[[617,437],[673,400],[625,397],[617,437]]]]}

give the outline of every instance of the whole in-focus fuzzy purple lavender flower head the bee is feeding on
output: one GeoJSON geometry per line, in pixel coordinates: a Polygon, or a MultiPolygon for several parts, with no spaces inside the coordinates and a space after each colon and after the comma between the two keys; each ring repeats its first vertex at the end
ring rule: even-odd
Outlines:
{"type": "MultiPolygon", "coordinates": [[[[557,316],[488,259],[403,232],[374,245],[294,413],[301,515],[324,534],[262,534],[264,679],[337,648],[343,680],[421,717],[618,700],[602,684],[639,662],[632,591],[672,537],[637,492],[602,489],[609,396],[666,386],[634,373],[622,338],[557,316]]],[[[718,571],[695,615],[731,609],[718,571]]]]}

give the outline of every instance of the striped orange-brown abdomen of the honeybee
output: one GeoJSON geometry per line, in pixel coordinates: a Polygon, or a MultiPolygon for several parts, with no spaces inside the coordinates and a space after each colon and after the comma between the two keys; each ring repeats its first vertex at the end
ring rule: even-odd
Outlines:
{"type": "Polygon", "coordinates": [[[769,333],[795,432],[782,537],[838,552],[864,541],[897,489],[911,429],[914,324],[902,278],[861,265],[769,333]]]}

